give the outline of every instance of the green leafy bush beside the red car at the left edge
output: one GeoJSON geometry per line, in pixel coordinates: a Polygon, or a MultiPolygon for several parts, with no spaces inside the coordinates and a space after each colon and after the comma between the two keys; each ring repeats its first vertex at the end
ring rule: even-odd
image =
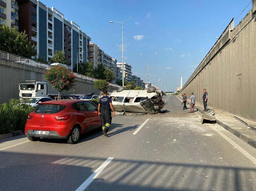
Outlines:
{"type": "Polygon", "coordinates": [[[35,108],[28,104],[19,104],[20,100],[11,99],[0,104],[0,134],[25,129],[28,114],[35,108]]]}

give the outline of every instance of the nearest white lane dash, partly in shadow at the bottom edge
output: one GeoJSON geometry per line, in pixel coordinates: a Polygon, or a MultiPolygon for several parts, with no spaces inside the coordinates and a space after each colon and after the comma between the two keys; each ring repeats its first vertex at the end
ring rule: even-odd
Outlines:
{"type": "Polygon", "coordinates": [[[99,173],[113,160],[114,158],[109,157],[102,165],[100,165],[90,176],[87,178],[81,186],[79,186],[75,191],[84,191],[89,184],[99,175],[99,173]]]}

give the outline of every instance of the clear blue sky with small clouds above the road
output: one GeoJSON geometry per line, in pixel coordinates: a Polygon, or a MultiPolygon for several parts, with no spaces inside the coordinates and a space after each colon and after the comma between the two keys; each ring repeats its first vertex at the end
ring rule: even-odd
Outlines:
{"type": "MultiPolygon", "coordinates": [[[[149,59],[149,81],[174,91],[190,77],[204,56],[216,42],[232,18],[237,18],[250,0],[41,0],[55,7],[68,21],[80,25],[91,42],[96,43],[112,58],[122,62],[122,52],[116,44],[122,43],[122,22],[132,16],[124,26],[124,43],[130,45],[124,53],[125,62],[132,65],[134,75],[147,81],[147,58],[140,54],[157,55],[149,59]],[[73,2],[70,4],[70,2],[73,2]],[[164,74],[163,74],[164,73],[164,74]]],[[[236,20],[238,24],[248,13],[250,4],[236,20]]]]}

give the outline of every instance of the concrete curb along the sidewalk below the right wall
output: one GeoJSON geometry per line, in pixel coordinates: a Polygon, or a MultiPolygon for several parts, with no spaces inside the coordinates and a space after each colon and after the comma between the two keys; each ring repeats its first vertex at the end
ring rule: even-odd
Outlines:
{"type": "MultiPolygon", "coordinates": [[[[177,96],[178,97],[178,96],[177,96]]],[[[188,103],[188,102],[187,102],[188,103]]],[[[202,110],[200,110],[198,107],[194,106],[194,108],[196,110],[198,110],[198,112],[203,113],[202,110]]],[[[220,125],[221,127],[223,127],[224,129],[228,130],[230,133],[234,134],[235,136],[237,136],[239,139],[241,139],[242,141],[246,142],[247,144],[251,145],[252,147],[256,148],[256,138],[251,138],[250,134],[246,134],[242,131],[240,131],[239,129],[233,128],[225,123],[223,123],[220,120],[216,120],[217,124],[220,125]]]]}

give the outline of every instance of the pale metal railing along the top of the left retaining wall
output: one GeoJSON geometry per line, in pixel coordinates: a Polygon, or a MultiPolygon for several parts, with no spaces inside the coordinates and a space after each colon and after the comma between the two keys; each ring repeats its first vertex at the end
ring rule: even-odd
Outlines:
{"type": "MultiPolygon", "coordinates": [[[[25,65],[29,65],[29,66],[33,66],[33,67],[38,67],[38,68],[43,68],[43,69],[50,69],[52,68],[52,66],[42,63],[42,62],[38,62],[29,58],[25,58],[25,57],[21,57],[15,54],[11,54],[8,52],[4,52],[0,50],[0,58],[1,59],[5,59],[5,60],[10,60],[16,63],[20,63],[20,64],[25,64],[25,65]]],[[[80,74],[80,73],[75,73],[73,72],[78,78],[81,79],[87,79],[87,80],[91,80],[91,81],[97,81],[98,79],[93,78],[93,77],[88,77],[86,75],[80,74]]],[[[121,87],[117,84],[113,84],[113,83],[109,83],[110,86],[113,87],[121,87]]]]}

